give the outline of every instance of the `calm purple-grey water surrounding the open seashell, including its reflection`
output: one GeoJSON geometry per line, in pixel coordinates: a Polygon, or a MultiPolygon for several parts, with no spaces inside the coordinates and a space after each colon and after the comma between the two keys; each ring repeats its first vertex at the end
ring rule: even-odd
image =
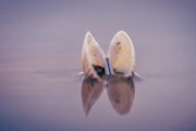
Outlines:
{"type": "Polygon", "coordinates": [[[0,17],[0,130],[196,130],[194,1],[4,1],[0,17]],[[78,76],[85,33],[107,52],[119,29],[143,80],[78,76]]]}

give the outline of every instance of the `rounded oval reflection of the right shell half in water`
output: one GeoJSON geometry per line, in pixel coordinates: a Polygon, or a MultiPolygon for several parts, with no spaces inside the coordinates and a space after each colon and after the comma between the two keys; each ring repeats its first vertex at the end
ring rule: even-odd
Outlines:
{"type": "Polygon", "coordinates": [[[108,96],[120,115],[126,115],[134,102],[135,85],[131,78],[112,76],[108,80],[108,96]]]}

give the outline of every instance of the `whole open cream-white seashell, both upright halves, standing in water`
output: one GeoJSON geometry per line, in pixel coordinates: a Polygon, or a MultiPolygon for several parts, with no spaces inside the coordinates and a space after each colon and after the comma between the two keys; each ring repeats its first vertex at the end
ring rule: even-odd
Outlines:
{"type": "Polygon", "coordinates": [[[135,50],[130,36],[118,32],[111,40],[107,58],[93,37],[87,32],[82,49],[82,66],[86,76],[100,79],[103,74],[123,74],[132,76],[135,68],[135,50]]]}

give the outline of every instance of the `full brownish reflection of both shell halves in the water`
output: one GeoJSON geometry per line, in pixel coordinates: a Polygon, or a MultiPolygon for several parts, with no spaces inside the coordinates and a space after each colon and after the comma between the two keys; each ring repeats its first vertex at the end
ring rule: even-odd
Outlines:
{"type": "MultiPolygon", "coordinates": [[[[103,91],[105,81],[86,78],[82,84],[82,103],[86,116],[103,91]]],[[[135,85],[132,78],[113,75],[107,80],[107,92],[114,110],[120,115],[128,114],[135,94],[135,85]]]]}

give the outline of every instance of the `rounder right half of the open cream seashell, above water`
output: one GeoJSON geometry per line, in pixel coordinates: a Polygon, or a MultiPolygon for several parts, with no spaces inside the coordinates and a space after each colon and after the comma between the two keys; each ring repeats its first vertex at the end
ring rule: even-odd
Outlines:
{"type": "Polygon", "coordinates": [[[130,76],[134,73],[135,50],[130,36],[124,32],[118,32],[108,50],[108,58],[114,73],[123,73],[130,76]]]}

